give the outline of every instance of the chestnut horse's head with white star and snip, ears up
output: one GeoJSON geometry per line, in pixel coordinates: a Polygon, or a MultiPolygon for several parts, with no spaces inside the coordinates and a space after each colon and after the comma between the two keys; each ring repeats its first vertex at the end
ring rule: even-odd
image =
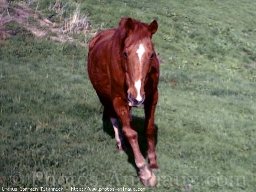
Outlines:
{"type": "Polygon", "coordinates": [[[157,31],[157,21],[145,24],[128,18],[124,24],[126,38],[122,52],[125,82],[128,87],[128,104],[138,107],[145,99],[144,84],[156,57],[152,35],[157,31]]]}

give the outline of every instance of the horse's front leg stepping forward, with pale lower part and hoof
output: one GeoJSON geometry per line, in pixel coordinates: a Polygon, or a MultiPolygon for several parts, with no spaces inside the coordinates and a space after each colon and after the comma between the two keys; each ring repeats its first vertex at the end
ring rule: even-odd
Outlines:
{"type": "Polygon", "coordinates": [[[129,111],[129,106],[127,102],[121,98],[113,99],[113,106],[115,108],[116,114],[119,116],[122,122],[122,132],[129,141],[131,148],[134,152],[135,163],[140,170],[140,179],[144,185],[154,186],[157,183],[156,176],[146,166],[146,161],[140,152],[140,147],[138,144],[138,134],[136,129],[131,123],[131,116],[129,111]]]}

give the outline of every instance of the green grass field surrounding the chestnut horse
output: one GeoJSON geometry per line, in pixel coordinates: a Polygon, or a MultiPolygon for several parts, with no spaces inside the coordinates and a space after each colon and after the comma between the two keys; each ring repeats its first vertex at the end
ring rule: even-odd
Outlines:
{"type": "MultiPolygon", "coordinates": [[[[49,3],[38,3],[46,16],[49,3]]],[[[253,192],[256,2],[80,3],[99,31],[116,27],[121,17],[159,23],[153,38],[163,60],[155,113],[158,184],[143,186],[131,149],[119,154],[111,125],[102,129],[87,47],[35,38],[12,25],[17,34],[0,40],[0,186],[253,192]]],[[[69,5],[76,8],[75,1],[69,5]]],[[[143,108],[133,115],[145,154],[143,108]]]]}

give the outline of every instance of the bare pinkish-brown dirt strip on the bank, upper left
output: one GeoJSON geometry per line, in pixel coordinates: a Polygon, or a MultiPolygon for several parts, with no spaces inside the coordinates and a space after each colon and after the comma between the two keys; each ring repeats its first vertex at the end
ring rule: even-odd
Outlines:
{"type": "MultiPolygon", "coordinates": [[[[6,23],[16,22],[23,26],[35,37],[39,38],[49,38],[55,41],[76,41],[72,35],[70,35],[70,29],[76,28],[76,23],[73,18],[65,19],[64,25],[65,29],[60,26],[60,24],[55,23],[43,17],[41,12],[37,9],[33,10],[29,8],[28,3],[19,2],[12,3],[7,2],[6,0],[0,0],[0,39],[5,39],[11,35],[16,35],[15,32],[6,27],[6,23]],[[70,20],[70,21],[69,21],[70,20]]],[[[81,21],[75,21],[80,22],[81,21]]],[[[86,25],[78,26],[79,32],[91,33],[89,31],[90,22],[87,21],[86,25]]],[[[95,35],[96,32],[93,32],[91,36],[95,35]]],[[[85,46],[86,43],[78,42],[82,46],[85,46]]]]}

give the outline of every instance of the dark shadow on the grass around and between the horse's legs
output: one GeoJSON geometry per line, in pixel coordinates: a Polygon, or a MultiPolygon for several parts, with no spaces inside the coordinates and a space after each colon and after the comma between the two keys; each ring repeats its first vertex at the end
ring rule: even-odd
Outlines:
{"type": "MultiPolygon", "coordinates": [[[[137,133],[138,133],[138,143],[140,146],[140,151],[141,154],[143,155],[144,158],[147,157],[147,151],[148,151],[148,143],[147,143],[147,138],[145,135],[145,118],[138,117],[138,116],[132,116],[132,123],[136,127],[137,133]]],[[[157,145],[157,125],[156,127],[156,136],[155,136],[155,145],[157,145]]],[[[122,124],[119,122],[119,128],[122,128],[122,124]]],[[[103,131],[105,131],[108,135],[110,135],[113,139],[115,138],[115,133],[113,131],[113,126],[110,122],[110,120],[105,120],[103,122],[103,131]]],[[[122,132],[122,131],[121,131],[122,132]]],[[[131,145],[129,144],[128,140],[126,137],[122,134],[125,142],[125,146],[127,150],[125,153],[128,156],[128,162],[131,163],[134,168],[137,170],[137,173],[139,172],[135,160],[134,160],[134,153],[132,151],[131,145]]],[[[117,146],[116,146],[116,151],[118,151],[117,146]]]]}

